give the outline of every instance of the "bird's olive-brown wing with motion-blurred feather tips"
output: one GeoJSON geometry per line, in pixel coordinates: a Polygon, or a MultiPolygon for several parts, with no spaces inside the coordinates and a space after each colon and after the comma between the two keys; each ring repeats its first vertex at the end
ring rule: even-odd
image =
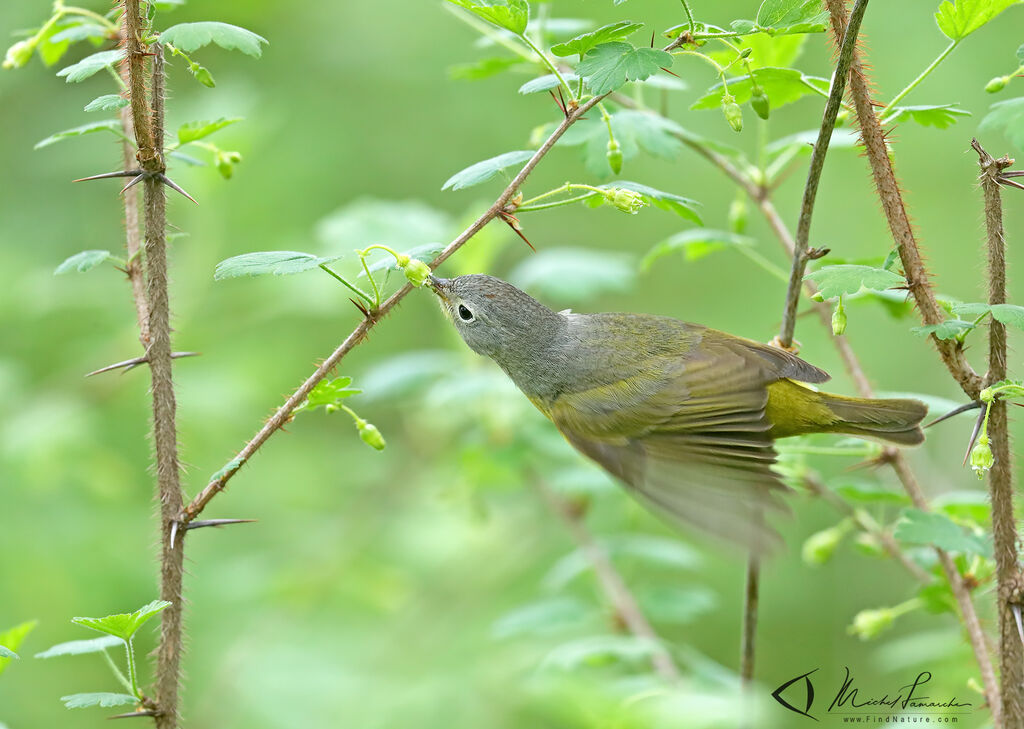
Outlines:
{"type": "Polygon", "coordinates": [[[786,352],[707,330],[679,356],[564,393],[549,406],[568,441],[675,519],[756,549],[777,542],[766,510],[784,510],[771,470],[767,386],[827,375],[786,352]]]}

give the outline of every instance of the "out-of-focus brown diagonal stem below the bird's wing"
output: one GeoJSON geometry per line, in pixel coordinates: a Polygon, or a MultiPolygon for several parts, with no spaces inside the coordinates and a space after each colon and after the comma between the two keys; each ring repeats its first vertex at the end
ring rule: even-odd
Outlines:
{"type": "Polygon", "coordinates": [[[591,534],[590,529],[587,528],[584,520],[551,489],[544,479],[535,476],[531,480],[537,490],[541,494],[541,498],[551,511],[558,515],[558,518],[562,520],[562,523],[565,524],[565,527],[572,535],[572,540],[580,545],[580,550],[594,568],[594,573],[597,575],[601,590],[608,598],[608,602],[611,603],[612,608],[614,608],[615,614],[622,618],[622,621],[629,629],[630,633],[638,638],[650,641],[653,645],[657,646],[657,649],[650,657],[654,670],[662,678],[668,681],[679,681],[679,668],[673,661],[669,652],[663,647],[662,639],[658,638],[650,623],[647,621],[647,617],[643,614],[643,610],[637,599],[630,592],[629,587],[627,587],[626,582],[615,569],[611,560],[608,559],[608,555],[597,544],[597,541],[591,534]]]}

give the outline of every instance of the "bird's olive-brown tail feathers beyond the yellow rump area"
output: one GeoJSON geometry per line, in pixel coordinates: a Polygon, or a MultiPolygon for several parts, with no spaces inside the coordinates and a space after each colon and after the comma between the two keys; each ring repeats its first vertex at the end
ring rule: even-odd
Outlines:
{"type": "Polygon", "coordinates": [[[821,404],[838,418],[827,427],[828,432],[877,438],[896,445],[918,445],[925,440],[920,423],[928,415],[928,405],[921,400],[819,394],[821,404]]]}

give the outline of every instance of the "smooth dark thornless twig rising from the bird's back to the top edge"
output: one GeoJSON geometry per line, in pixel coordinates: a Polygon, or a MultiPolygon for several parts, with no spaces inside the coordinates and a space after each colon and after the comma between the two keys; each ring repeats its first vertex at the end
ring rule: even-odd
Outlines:
{"type": "Polygon", "coordinates": [[[800,303],[804,271],[807,269],[807,262],[811,260],[807,249],[811,237],[811,215],[814,212],[814,201],[818,194],[821,171],[824,169],[828,142],[831,140],[833,130],[836,129],[836,118],[843,105],[843,94],[846,91],[850,65],[853,62],[853,52],[857,46],[860,22],[863,19],[866,9],[867,0],[857,0],[853,6],[850,22],[846,26],[843,42],[840,45],[839,60],[836,63],[836,71],[833,73],[828,101],[825,103],[825,111],[821,117],[821,128],[818,130],[818,138],[814,141],[814,148],[811,151],[811,164],[807,172],[807,184],[804,185],[800,220],[797,223],[797,241],[793,254],[793,269],[790,273],[790,288],[786,291],[785,307],[782,309],[782,326],[778,334],[778,344],[783,349],[788,349],[793,344],[793,332],[797,327],[797,305],[800,303]]]}

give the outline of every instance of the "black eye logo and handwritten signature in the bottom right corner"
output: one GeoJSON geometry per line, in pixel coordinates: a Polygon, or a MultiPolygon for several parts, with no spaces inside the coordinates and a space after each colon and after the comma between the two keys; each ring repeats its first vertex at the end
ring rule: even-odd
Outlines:
{"type": "MultiPolygon", "coordinates": [[[[811,706],[814,704],[814,684],[811,683],[811,675],[817,671],[818,669],[814,669],[790,679],[772,691],[772,698],[795,714],[818,721],[817,717],[811,715],[811,706]],[[800,709],[801,705],[803,709],[800,709]]],[[[828,704],[828,709],[825,710],[828,715],[881,716],[902,712],[918,716],[949,716],[966,714],[965,710],[969,710],[972,705],[970,701],[956,700],[955,696],[940,699],[927,695],[925,685],[932,680],[930,671],[922,671],[910,683],[900,686],[896,691],[882,694],[865,693],[854,683],[850,669],[844,667],[844,671],[846,675],[843,683],[828,704]]]]}

